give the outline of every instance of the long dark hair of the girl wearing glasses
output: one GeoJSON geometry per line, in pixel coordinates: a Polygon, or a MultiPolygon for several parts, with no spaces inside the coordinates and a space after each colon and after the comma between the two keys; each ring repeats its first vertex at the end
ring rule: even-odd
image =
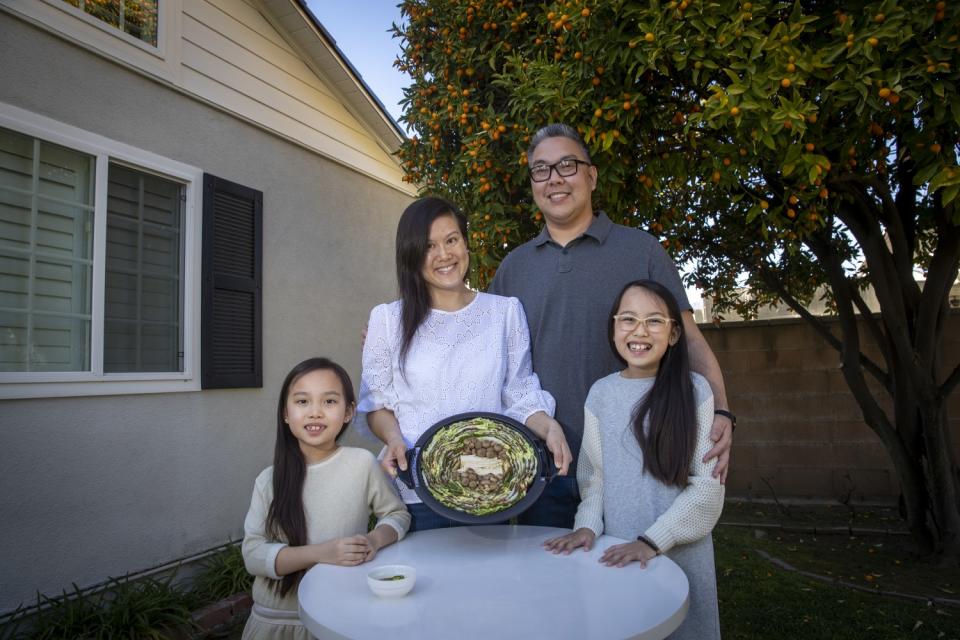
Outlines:
{"type": "Polygon", "coordinates": [[[613,340],[613,316],[619,311],[624,294],[634,287],[645,289],[663,301],[680,336],[675,344],[667,346],[653,387],[633,408],[633,434],[643,452],[644,470],[665,484],[685,487],[696,450],[697,413],[683,318],[673,294],[659,282],[635,280],[628,283],[614,301],[607,325],[610,348],[623,364],[626,360],[617,351],[613,340]],[[645,421],[649,421],[646,430],[643,428],[645,421]]]}

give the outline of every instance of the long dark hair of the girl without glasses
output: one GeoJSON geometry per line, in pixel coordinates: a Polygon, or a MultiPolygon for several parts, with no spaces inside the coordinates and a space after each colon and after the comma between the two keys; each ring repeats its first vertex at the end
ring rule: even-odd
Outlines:
{"type": "MultiPolygon", "coordinates": [[[[302,376],[311,371],[332,371],[343,385],[343,399],[348,407],[354,406],[353,383],[343,367],[327,358],[309,358],[304,360],[287,374],[280,387],[280,401],[277,403],[277,443],[273,449],[273,502],[267,511],[267,536],[274,540],[284,540],[291,547],[307,544],[307,517],[303,510],[303,482],[307,476],[307,463],[300,450],[300,442],[287,426],[287,395],[290,387],[302,376]]],[[[349,423],[348,423],[349,424],[349,423]]],[[[347,430],[347,424],[340,429],[336,440],[347,430]]],[[[285,596],[299,584],[304,571],[289,573],[274,584],[274,588],[285,596]]]]}

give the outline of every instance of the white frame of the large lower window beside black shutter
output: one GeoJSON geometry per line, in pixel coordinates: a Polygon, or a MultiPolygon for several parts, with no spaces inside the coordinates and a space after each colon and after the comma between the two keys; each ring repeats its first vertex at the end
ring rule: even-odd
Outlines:
{"type": "Polygon", "coordinates": [[[200,267],[203,171],[182,162],[0,102],[0,126],[96,158],[93,243],[93,317],[90,371],[0,372],[0,399],[170,393],[200,390],[200,267]],[[107,179],[111,162],[184,185],[183,371],[104,373],[104,274],[107,179]]]}

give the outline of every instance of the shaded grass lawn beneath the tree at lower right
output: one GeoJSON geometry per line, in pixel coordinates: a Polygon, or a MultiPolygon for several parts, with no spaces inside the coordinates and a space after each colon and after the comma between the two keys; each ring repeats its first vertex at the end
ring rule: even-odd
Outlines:
{"type": "Polygon", "coordinates": [[[958,606],[827,584],[758,553],[874,591],[960,600],[960,569],[917,558],[909,536],[868,530],[903,526],[886,509],[728,504],[714,531],[724,638],[960,639],[958,606]],[[771,523],[781,528],[762,526],[771,523]],[[819,533],[839,527],[854,535],[819,533]]]}

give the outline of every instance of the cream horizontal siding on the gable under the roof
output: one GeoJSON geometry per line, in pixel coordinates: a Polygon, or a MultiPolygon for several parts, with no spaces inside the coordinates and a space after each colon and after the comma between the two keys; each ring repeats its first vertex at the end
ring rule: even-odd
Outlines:
{"type": "MultiPolygon", "coordinates": [[[[115,29],[62,0],[0,0],[24,19],[239,118],[409,194],[392,149],[346,106],[343,91],[282,35],[260,0],[165,0],[157,49],[132,47],[115,29]],[[79,17],[78,17],[79,16],[79,17]]],[[[286,8],[284,26],[310,28],[286,8]]],[[[318,51],[324,48],[314,38],[318,51]]],[[[317,53],[317,52],[311,52],[317,53]]],[[[334,64],[324,49],[323,57],[334,64]]],[[[399,140],[397,140],[397,145],[399,140]]]]}

